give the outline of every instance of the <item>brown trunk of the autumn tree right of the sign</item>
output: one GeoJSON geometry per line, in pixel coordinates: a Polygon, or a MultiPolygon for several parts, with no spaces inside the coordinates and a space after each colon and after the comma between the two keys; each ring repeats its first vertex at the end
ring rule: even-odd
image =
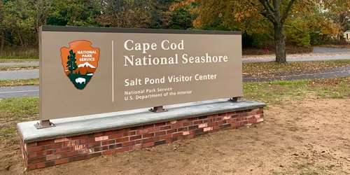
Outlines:
{"type": "Polygon", "coordinates": [[[283,34],[283,25],[274,25],[274,44],[276,47],[276,62],[287,62],[286,36],[283,34]]]}

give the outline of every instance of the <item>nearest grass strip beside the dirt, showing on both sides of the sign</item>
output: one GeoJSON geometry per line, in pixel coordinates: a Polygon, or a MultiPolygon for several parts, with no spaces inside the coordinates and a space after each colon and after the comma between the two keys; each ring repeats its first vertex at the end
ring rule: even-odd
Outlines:
{"type": "MultiPolygon", "coordinates": [[[[244,83],[244,97],[267,104],[306,97],[350,98],[350,77],[244,83]]],[[[37,119],[38,97],[0,99],[0,142],[14,143],[17,140],[16,123],[37,119]]]]}

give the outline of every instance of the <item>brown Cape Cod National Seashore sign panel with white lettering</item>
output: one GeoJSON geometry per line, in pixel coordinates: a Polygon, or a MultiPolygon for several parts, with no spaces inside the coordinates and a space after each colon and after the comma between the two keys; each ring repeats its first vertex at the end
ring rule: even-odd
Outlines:
{"type": "Polygon", "coordinates": [[[41,120],[241,96],[239,32],[41,28],[41,120]]]}

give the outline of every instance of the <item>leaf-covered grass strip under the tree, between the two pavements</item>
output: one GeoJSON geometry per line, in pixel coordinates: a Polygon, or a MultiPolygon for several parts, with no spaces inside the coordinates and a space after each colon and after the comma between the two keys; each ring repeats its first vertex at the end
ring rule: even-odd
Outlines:
{"type": "Polygon", "coordinates": [[[318,72],[324,69],[350,66],[350,59],[316,62],[258,62],[243,64],[243,74],[253,77],[271,76],[273,74],[286,74],[297,72],[318,72]]]}

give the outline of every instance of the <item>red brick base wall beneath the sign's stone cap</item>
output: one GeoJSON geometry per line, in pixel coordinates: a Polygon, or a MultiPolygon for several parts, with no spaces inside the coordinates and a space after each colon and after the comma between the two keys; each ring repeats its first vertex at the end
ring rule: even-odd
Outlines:
{"type": "Polygon", "coordinates": [[[169,144],[209,132],[260,123],[263,121],[262,117],[263,109],[260,108],[61,139],[31,143],[21,141],[22,158],[27,169],[49,167],[100,155],[169,144]]]}

